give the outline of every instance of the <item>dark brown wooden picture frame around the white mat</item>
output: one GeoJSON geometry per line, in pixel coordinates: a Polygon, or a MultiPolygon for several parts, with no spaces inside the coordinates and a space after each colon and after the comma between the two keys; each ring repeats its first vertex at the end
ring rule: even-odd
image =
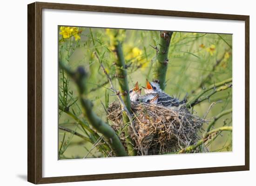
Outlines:
{"type": "Polygon", "coordinates": [[[27,180],[34,184],[249,170],[249,16],[35,2],[27,6],[27,180]],[[42,9],[245,21],[245,165],[42,178],[42,9]]]}

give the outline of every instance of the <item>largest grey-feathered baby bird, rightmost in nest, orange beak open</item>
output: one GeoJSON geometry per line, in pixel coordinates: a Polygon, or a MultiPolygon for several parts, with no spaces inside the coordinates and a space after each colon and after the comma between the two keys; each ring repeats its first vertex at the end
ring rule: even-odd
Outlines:
{"type": "Polygon", "coordinates": [[[149,82],[147,80],[147,87],[142,87],[142,88],[144,88],[144,91],[145,91],[146,94],[157,93],[159,95],[158,104],[161,104],[165,107],[173,107],[173,106],[178,107],[180,104],[186,103],[186,101],[184,101],[184,100],[182,102],[180,102],[178,98],[171,97],[168,94],[166,94],[160,88],[160,85],[157,82],[149,82]]]}

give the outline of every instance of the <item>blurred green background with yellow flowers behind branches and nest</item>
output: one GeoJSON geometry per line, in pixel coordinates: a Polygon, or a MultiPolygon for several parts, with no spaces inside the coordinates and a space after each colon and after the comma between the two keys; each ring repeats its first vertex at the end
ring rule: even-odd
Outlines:
{"type": "MultiPolygon", "coordinates": [[[[87,27],[59,27],[59,59],[72,69],[83,66],[89,72],[87,81],[89,98],[94,103],[94,111],[106,121],[104,107],[116,99],[109,88],[108,80],[99,68],[93,52],[98,51],[103,64],[111,76],[115,75],[115,53],[113,50],[113,29],[87,27]],[[106,95],[109,97],[107,103],[106,95]],[[104,105],[104,106],[103,106],[104,105]]],[[[128,68],[129,88],[136,81],[145,86],[146,78],[152,79],[152,59],[159,38],[159,31],[123,30],[123,51],[128,68]]],[[[165,92],[182,99],[188,94],[193,98],[204,87],[232,77],[232,35],[216,33],[174,32],[168,52],[167,86],[165,92]]],[[[115,88],[118,82],[113,77],[115,88]]],[[[74,82],[63,71],[59,71],[59,104],[83,118],[74,82]],[[64,90],[64,91],[63,91],[64,90]],[[65,94],[67,90],[67,94],[65,94]]],[[[212,118],[224,109],[232,108],[232,89],[218,92],[200,104],[195,105],[194,114],[203,117],[211,103],[206,118],[212,118]]],[[[232,126],[232,114],[225,115],[216,122],[232,126]]],[[[111,125],[111,122],[109,122],[111,125]]],[[[77,122],[60,110],[59,126],[84,134],[77,122]]],[[[207,124],[203,128],[207,127],[207,124]]],[[[203,131],[202,131],[203,132],[203,131]]],[[[199,131],[200,135],[200,131],[199,131]]],[[[102,157],[93,145],[72,133],[59,130],[59,159],[102,157]],[[65,134],[65,138],[64,138],[65,134]],[[93,148],[93,149],[92,149],[93,148]]],[[[209,152],[232,151],[232,132],[223,132],[209,144],[209,152]]]]}

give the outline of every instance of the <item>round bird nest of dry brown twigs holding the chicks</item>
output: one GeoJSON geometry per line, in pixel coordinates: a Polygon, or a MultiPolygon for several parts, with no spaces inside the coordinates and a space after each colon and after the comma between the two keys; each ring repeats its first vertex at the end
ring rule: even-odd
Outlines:
{"type": "Polygon", "coordinates": [[[122,109],[116,100],[108,107],[108,119],[125,147],[126,138],[133,140],[137,155],[171,154],[193,145],[200,137],[204,119],[191,114],[185,106],[168,108],[147,103],[132,103],[133,125],[125,124],[122,109]],[[128,134],[125,134],[125,127],[128,134]]]}

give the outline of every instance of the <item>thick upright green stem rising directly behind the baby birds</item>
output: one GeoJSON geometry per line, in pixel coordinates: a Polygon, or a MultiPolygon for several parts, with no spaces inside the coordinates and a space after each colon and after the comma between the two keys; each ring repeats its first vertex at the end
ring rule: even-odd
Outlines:
{"type": "Polygon", "coordinates": [[[165,89],[165,78],[168,68],[168,50],[173,32],[161,31],[156,47],[156,61],[153,63],[153,81],[160,84],[162,90],[165,89]]]}

